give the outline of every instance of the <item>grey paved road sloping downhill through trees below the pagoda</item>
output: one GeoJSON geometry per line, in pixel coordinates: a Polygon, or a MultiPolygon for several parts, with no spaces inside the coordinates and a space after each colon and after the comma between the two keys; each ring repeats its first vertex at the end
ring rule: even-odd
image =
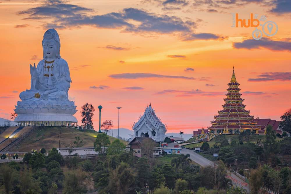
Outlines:
{"type": "MultiPolygon", "coordinates": [[[[200,154],[197,154],[196,152],[194,152],[194,150],[190,150],[190,149],[186,149],[186,148],[183,148],[182,149],[182,154],[189,154],[190,155],[190,159],[193,160],[194,162],[198,163],[199,165],[201,165],[202,167],[205,167],[205,166],[213,166],[214,165],[214,162],[204,158],[203,156],[201,156],[200,154]]],[[[246,192],[247,193],[250,193],[250,190],[249,190],[249,184],[247,184],[245,181],[243,181],[242,179],[240,179],[239,177],[237,177],[237,175],[228,172],[230,177],[230,179],[232,179],[232,184],[234,186],[243,186],[244,189],[246,189],[246,192]]]]}

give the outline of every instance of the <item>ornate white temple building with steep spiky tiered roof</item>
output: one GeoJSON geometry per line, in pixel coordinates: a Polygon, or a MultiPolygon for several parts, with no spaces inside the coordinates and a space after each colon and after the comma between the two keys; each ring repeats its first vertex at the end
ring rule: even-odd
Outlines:
{"type": "Polygon", "coordinates": [[[135,137],[150,137],[156,142],[164,142],[167,131],[165,124],[157,117],[152,105],[145,108],[145,112],[132,127],[135,137]]]}

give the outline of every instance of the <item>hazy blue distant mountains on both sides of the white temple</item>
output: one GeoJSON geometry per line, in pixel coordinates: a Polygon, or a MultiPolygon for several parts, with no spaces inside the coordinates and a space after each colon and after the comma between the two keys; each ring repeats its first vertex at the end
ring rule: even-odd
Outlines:
{"type": "MultiPolygon", "coordinates": [[[[110,131],[108,131],[107,135],[112,136],[113,133],[113,137],[117,137],[118,136],[118,129],[111,129],[110,131]]],[[[119,128],[119,137],[122,137],[123,139],[128,139],[128,135],[133,135],[133,130],[129,130],[126,128],[119,128]]],[[[173,137],[181,137],[179,133],[166,133],[166,136],[173,136],[173,137]]],[[[183,134],[183,138],[184,140],[188,140],[193,136],[193,134],[183,134]]]]}

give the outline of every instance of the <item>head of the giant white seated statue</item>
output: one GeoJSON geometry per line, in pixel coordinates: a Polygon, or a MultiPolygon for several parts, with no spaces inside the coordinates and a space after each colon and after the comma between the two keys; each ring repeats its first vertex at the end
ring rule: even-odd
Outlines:
{"type": "Polygon", "coordinates": [[[58,33],[55,29],[48,29],[42,40],[43,58],[61,58],[60,48],[61,42],[58,33]]]}

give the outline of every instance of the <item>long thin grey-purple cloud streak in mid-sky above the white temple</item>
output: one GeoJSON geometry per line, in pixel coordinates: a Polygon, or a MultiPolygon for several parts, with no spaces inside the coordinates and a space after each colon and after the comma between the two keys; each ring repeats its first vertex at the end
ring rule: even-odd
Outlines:
{"type": "Polygon", "coordinates": [[[112,74],[112,75],[109,75],[109,77],[114,78],[114,79],[172,78],[172,79],[196,80],[194,77],[161,75],[161,74],[153,74],[153,73],[121,73],[121,74],[112,74]]]}

